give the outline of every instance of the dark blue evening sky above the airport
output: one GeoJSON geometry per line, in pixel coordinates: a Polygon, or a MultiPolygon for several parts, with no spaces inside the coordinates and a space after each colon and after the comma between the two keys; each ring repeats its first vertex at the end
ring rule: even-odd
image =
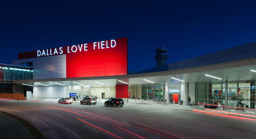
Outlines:
{"type": "Polygon", "coordinates": [[[128,70],[256,41],[254,1],[11,1],[0,5],[0,63],[18,52],[128,37],[128,70]]]}

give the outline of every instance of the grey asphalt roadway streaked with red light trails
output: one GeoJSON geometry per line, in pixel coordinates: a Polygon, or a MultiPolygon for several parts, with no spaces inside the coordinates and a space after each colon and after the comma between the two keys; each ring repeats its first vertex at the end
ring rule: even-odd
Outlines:
{"type": "Polygon", "coordinates": [[[0,111],[23,118],[47,139],[255,138],[256,120],[124,105],[0,100],[0,111]]]}

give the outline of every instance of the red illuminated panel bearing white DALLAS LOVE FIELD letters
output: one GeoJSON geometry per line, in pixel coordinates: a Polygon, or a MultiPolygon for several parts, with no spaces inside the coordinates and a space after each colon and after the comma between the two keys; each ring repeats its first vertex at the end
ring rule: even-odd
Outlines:
{"type": "Polygon", "coordinates": [[[18,59],[66,54],[66,77],[127,75],[127,38],[18,54],[18,59]]]}

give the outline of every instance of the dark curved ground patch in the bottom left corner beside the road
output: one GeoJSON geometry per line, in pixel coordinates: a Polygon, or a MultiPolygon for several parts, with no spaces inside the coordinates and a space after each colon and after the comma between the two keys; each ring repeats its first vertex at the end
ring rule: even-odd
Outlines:
{"type": "Polygon", "coordinates": [[[0,112],[0,138],[1,139],[33,139],[29,131],[14,118],[0,112]]]}

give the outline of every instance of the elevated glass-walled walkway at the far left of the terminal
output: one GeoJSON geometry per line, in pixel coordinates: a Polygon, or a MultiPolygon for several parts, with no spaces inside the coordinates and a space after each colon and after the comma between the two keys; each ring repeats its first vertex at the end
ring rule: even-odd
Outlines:
{"type": "Polygon", "coordinates": [[[18,67],[0,64],[0,82],[9,83],[12,80],[32,80],[32,67],[18,67]]]}

